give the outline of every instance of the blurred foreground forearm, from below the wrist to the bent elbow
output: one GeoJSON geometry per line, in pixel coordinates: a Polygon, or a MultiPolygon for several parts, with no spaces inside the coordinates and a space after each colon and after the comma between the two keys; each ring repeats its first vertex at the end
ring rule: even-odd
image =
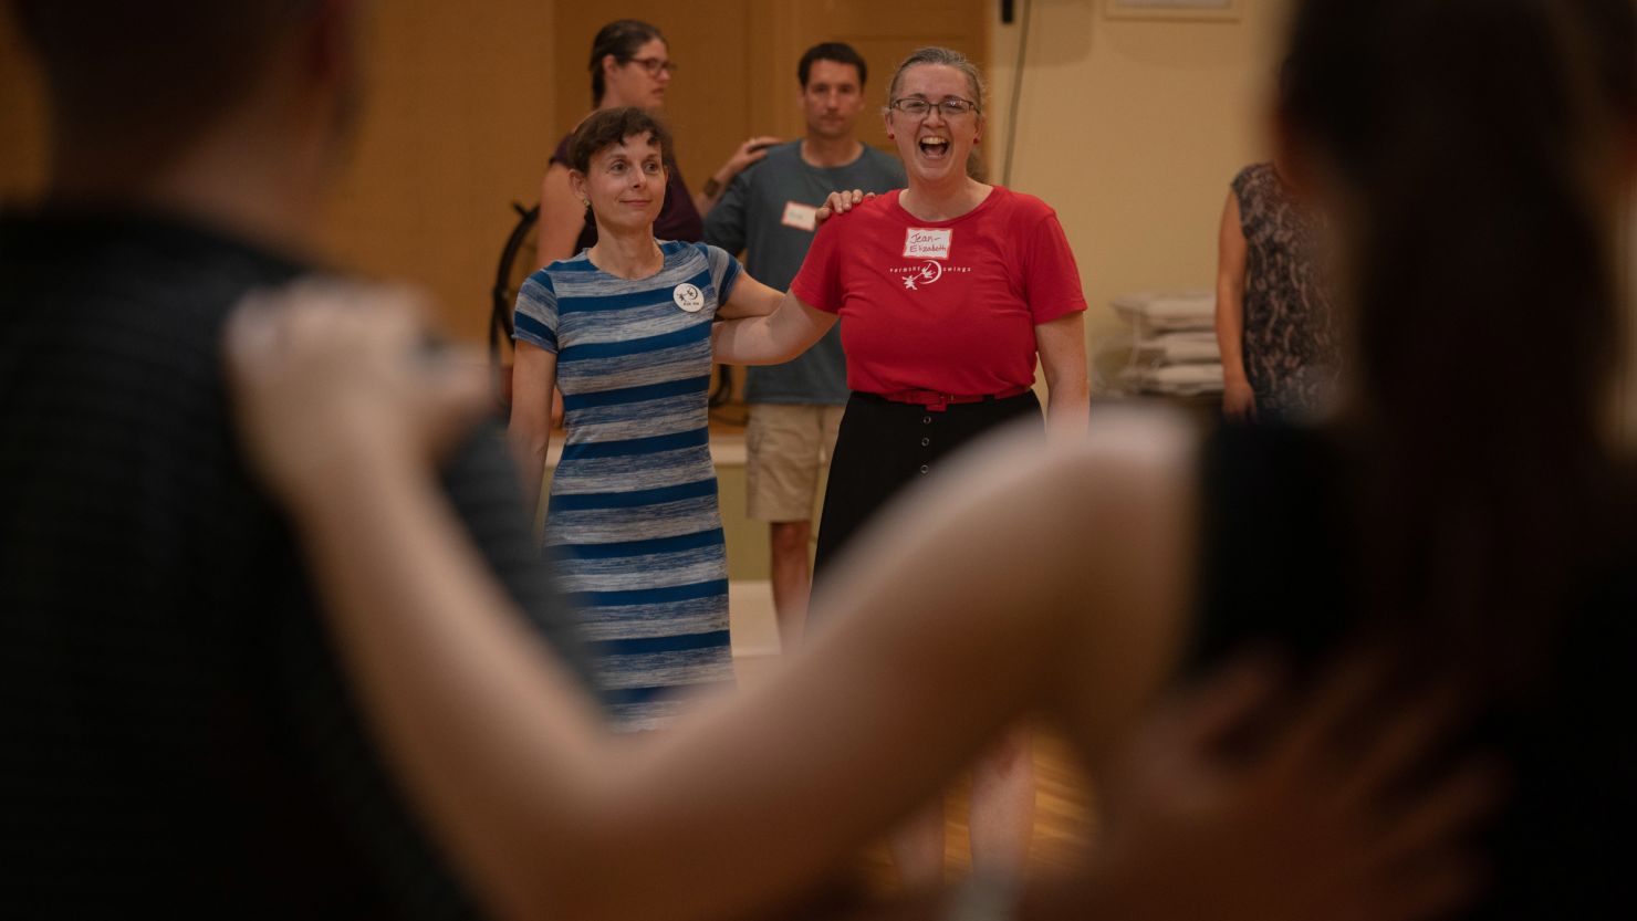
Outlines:
{"type": "Polygon", "coordinates": [[[360,458],[327,483],[298,527],[380,741],[493,908],[545,916],[607,741],[424,473],[360,458]]]}

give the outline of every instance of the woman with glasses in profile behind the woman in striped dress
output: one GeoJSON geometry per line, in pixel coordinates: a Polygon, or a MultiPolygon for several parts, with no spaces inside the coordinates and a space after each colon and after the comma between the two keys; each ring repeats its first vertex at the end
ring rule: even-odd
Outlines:
{"type": "MultiPolygon", "coordinates": [[[[665,106],[665,92],[676,74],[676,62],[671,61],[671,49],[658,26],[640,20],[616,20],[598,29],[598,36],[591,39],[589,69],[593,111],[637,106],[658,113],[665,106]]],[[[552,152],[545,180],[540,183],[535,267],[550,265],[558,258],[571,258],[598,242],[598,224],[591,218],[589,208],[568,185],[573,136],[573,131],[565,134],[557,151],[552,152]]],[[[778,137],[745,141],[697,193],[688,190],[673,154],[671,162],[666,164],[670,186],[665,208],[653,224],[655,237],[691,244],[702,240],[704,219],[701,216],[710,211],[733,177],[764,157],[764,147],[778,141],[778,137]]]]}

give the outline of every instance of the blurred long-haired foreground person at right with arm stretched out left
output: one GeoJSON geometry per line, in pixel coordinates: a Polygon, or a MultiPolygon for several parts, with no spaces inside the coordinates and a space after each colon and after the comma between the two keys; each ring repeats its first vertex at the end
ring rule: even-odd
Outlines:
{"type": "MultiPolygon", "coordinates": [[[[1211,770],[1139,757],[1200,738],[1162,715],[1120,749],[1146,767],[1116,767],[1110,743],[1175,669],[1274,643],[1318,681],[1310,707],[1342,715],[1315,730],[1297,708],[1305,728],[1269,717],[1203,733],[1228,764],[1301,762],[1267,753],[1311,756],[1315,738],[1339,733],[1359,775],[1318,790],[1355,802],[1380,764],[1414,761],[1405,753],[1426,723],[1382,730],[1323,703],[1357,700],[1326,663],[1385,646],[1398,664],[1387,699],[1475,707],[1473,738],[1449,736],[1449,757],[1483,741],[1513,777],[1483,841],[1493,887],[1467,916],[1630,918],[1624,849],[1608,842],[1637,816],[1637,749],[1614,712],[1634,646],[1637,519],[1601,420],[1634,26],[1627,0],[1300,3],[1295,65],[1313,90],[1283,108],[1282,141],[1337,222],[1357,330],[1342,414],[1203,447],[1172,420],[1112,414],[1080,442],[971,455],[838,561],[814,599],[832,613],[804,656],[660,739],[599,735],[552,659],[516,641],[429,489],[427,456],[481,381],[417,357],[401,312],[296,293],[295,309],[246,314],[232,352],[247,434],[406,782],[507,916],[766,905],[1028,708],[1059,717],[1110,777],[1115,815],[1090,883],[1069,901],[1026,895],[1021,916],[1447,916],[1470,878],[1403,856],[1382,872],[1375,844],[1321,828],[1349,813],[1303,805],[1313,788],[1272,782],[1242,821],[1193,824],[1233,810],[1206,808],[1223,788],[1211,770]],[[1539,347],[1542,304],[1557,348],[1539,347]],[[1449,362],[1442,347],[1472,330],[1490,366],[1539,368],[1534,386],[1496,401],[1496,381],[1449,362]],[[349,398],[326,404],[337,393],[349,398]],[[1144,803],[1157,813],[1130,811],[1144,803]],[[1360,888],[1342,892],[1349,882],[1360,888]]],[[[1202,707],[1233,713],[1234,699],[1202,707]]],[[[1202,723],[1216,720],[1180,720],[1202,723]]],[[[1321,762],[1337,756],[1319,748],[1321,762]]],[[[1413,795],[1439,777],[1387,785],[1413,795]]],[[[1388,841],[1424,834],[1481,790],[1457,787],[1431,800],[1442,823],[1367,808],[1365,824],[1388,841]]]]}

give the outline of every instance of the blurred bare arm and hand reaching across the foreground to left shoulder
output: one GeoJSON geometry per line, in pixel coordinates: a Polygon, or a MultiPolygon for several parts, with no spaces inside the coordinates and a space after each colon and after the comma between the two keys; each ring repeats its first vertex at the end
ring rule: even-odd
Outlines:
{"type": "MultiPolygon", "coordinates": [[[[259,389],[260,368],[277,376],[277,362],[241,360],[242,411],[265,434],[268,479],[291,497],[390,757],[506,918],[694,919],[773,906],[1031,703],[1056,700],[1097,751],[1169,671],[1182,581],[1151,576],[1184,564],[1187,499],[1152,501],[1187,478],[1156,463],[1177,450],[1175,435],[1154,448],[1107,425],[1102,445],[1072,453],[1003,445],[974,458],[953,474],[966,499],[922,496],[887,528],[927,541],[877,537],[843,563],[837,587],[815,599],[835,627],[784,674],[642,744],[611,739],[452,527],[424,448],[416,456],[416,425],[395,422],[439,404],[414,368],[391,371],[375,348],[391,322],[298,326],[313,329],[260,340],[329,355],[331,376],[286,368],[286,389],[259,389]],[[357,366],[360,344],[372,366],[357,366]],[[365,399],[372,388],[388,391],[385,406],[365,399]],[[326,404],[337,391],[349,399],[326,404]],[[322,409],[291,409],[313,402],[322,409]],[[350,435],[286,437],[300,432],[350,435]],[[1118,460],[1139,443],[1149,458],[1118,460]],[[314,452],[324,463],[303,456],[314,452]],[[1107,571],[1085,564],[1100,558],[1107,571]],[[1010,577],[1025,566],[1041,577],[1010,577]],[[1103,604],[1130,617],[1085,617],[1103,604]],[[930,631],[948,641],[927,643],[930,631]]],[[[413,337],[401,339],[411,352],[413,337]]],[[[473,389],[481,402],[481,373],[473,389]]]]}

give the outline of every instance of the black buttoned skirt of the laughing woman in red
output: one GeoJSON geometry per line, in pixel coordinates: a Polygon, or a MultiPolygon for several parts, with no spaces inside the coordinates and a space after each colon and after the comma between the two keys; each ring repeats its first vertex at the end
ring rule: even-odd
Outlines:
{"type": "Polygon", "coordinates": [[[815,576],[825,573],[894,496],[940,469],[946,458],[972,440],[1010,422],[1044,432],[1035,391],[984,402],[956,402],[943,411],[855,391],[846,401],[830,458],[815,576]]]}

